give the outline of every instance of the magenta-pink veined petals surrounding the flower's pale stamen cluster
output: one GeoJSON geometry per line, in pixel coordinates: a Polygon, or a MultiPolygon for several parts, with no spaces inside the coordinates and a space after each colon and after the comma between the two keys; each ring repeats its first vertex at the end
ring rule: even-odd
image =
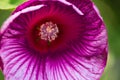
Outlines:
{"type": "Polygon", "coordinates": [[[99,80],[108,44],[104,22],[90,0],[29,0],[1,27],[5,80],[99,80]],[[39,26],[56,23],[48,43],[39,26]]]}

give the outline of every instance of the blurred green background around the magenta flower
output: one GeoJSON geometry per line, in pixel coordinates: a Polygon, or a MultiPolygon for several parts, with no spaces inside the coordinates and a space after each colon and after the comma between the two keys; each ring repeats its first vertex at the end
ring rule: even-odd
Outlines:
{"type": "MultiPolygon", "coordinates": [[[[0,0],[0,26],[25,0],[0,0]]],[[[120,80],[120,0],[93,0],[100,10],[108,29],[109,57],[100,80],[120,80]]],[[[0,80],[4,80],[0,72],[0,80]]]]}

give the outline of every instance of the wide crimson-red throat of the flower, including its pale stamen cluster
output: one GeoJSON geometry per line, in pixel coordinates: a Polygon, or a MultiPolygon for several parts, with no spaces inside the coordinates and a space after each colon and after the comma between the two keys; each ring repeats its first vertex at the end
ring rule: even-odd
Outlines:
{"type": "Polygon", "coordinates": [[[37,51],[62,51],[79,37],[82,17],[71,6],[54,1],[34,13],[38,14],[29,22],[32,24],[29,40],[37,51]]]}

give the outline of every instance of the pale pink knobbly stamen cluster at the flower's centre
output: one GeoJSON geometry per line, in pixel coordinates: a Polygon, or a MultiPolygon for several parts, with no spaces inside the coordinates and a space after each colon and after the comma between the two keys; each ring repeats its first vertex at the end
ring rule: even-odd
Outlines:
{"type": "Polygon", "coordinates": [[[58,33],[57,25],[52,22],[46,22],[40,26],[39,35],[42,40],[51,42],[57,38],[58,33]]]}

